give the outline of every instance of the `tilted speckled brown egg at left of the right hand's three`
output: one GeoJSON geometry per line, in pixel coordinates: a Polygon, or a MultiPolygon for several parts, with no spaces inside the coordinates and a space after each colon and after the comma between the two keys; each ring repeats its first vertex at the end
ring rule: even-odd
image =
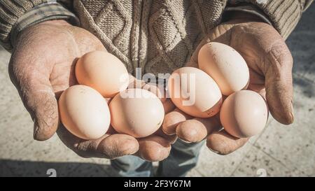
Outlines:
{"type": "Polygon", "coordinates": [[[188,115],[209,118],[220,111],[220,89],[200,69],[183,67],[174,71],[168,80],[168,91],[175,106],[188,115]]]}

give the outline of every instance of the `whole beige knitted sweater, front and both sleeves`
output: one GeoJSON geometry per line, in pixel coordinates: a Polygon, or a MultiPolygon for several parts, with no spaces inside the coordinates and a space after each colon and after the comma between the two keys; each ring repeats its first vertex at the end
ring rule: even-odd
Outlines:
{"type": "MultiPolygon", "coordinates": [[[[12,28],[19,17],[50,0],[1,0],[0,42],[10,50],[12,28]]],[[[190,59],[207,33],[220,24],[228,0],[62,0],[80,20],[80,27],[97,36],[121,59],[130,73],[174,71],[190,59]]],[[[311,0],[244,0],[267,17],[287,38],[311,0]]],[[[233,8],[230,8],[233,10],[233,8]]],[[[54,16],[54,15],[50,15],[54,16]]],[[[68,15],[69,16],[69,15],[68,15]]],[[[59,18],[59,17],[52,17],[59,18]]]]}

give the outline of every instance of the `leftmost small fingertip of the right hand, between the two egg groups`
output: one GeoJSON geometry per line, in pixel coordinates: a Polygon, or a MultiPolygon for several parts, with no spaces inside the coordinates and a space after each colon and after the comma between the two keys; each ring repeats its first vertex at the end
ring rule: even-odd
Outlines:
{"type": "Polygon", "coordinates": [[[162,124],[162,130],[165,132],[165,134],[176,134],[176,127],[179,125],[179,123],[191,118],[193,117],[176,108],[174,111],[171,111],[165,115],[162,124]]]}

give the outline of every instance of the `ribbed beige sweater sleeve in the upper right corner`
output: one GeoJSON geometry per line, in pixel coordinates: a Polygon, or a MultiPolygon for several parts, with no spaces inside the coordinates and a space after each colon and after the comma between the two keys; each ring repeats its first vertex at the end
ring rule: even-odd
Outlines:
{"type": "Polygon", "coordinates": [[[228,7],[237,7],[241,3],[250,3],[267,17],[274,28],[279,31],[283,38],[288,38],[302,13],[313,0],[230,0],[228,7]]]}

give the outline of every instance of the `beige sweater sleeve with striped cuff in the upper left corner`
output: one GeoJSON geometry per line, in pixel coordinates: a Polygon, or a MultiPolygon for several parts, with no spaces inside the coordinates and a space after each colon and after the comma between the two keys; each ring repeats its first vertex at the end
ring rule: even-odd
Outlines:
{"type": "Polygon", "coordinates": [[[18,33],[45,20],[64,19],[78,24],[78,18],[55,0],[1,0],[0,1],[0,44],[10,51],[18,33]]]}

